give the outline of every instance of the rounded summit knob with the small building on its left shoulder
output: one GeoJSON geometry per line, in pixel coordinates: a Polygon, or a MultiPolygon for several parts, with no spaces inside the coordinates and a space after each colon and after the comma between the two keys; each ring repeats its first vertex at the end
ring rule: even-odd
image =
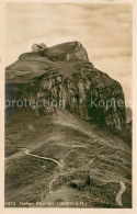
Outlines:
{"type": "Polygon", "coordinates": [[[21,55],[20,59],[27,56],[42,56],[52,61],[90,61],[85,48],[77,41],[62,43],[48,48],[44,43],[39,45],[34,44],[32,46],[32,52],[21,55]]]}

